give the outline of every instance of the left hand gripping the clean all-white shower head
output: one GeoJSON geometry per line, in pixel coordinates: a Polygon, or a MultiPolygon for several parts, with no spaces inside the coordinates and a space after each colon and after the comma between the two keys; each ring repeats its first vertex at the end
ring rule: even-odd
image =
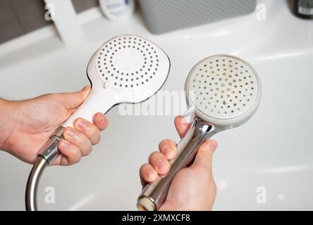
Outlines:
{"type": "MultiPolygon", "coordinates": [[[[75,93],[46,94],[24,101],[2,101],[0,113],[0,148],[24,162],[34,163],[39,150],[51,134],[85,101],[90,86],[75,93]],[[2,110],[4,108],[4,110],[2,110]],[[5,122],[3,120],[6,120],[5,122]]],[[[1,103],[1,102],[0,102],[1,103]]],[[[93,123],[83,118],[66,127],[59,142],[60,154],[52,165],[73,165],[89,155],[99,143],[100,131],[108,125],[102,113],[94,115],[93,123]]]]}

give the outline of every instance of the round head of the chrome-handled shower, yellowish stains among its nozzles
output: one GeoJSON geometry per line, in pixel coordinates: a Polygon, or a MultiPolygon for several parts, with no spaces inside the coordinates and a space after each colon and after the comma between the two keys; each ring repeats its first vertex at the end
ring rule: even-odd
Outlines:
{"type": "Polygon", "coordinates": [[[223,129],[238,127],[252,117],[261,99],[257,72],[244,60],[228,55],[204,58],[185,82],[186,100],[195,115],[223,129]]]}

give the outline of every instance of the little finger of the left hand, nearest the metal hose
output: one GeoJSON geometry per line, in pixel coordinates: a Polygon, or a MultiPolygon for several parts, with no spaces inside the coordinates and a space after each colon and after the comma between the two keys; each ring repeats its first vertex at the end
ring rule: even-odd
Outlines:
{"type": "Polygon", "coordinates": [[[80,161],[82,154],[78,146],[73,145],[68,141],[62,140],[58,144],[58,148],[62,155],[65,157],[61,158],[60,165],[73,165],[80,161]]]}

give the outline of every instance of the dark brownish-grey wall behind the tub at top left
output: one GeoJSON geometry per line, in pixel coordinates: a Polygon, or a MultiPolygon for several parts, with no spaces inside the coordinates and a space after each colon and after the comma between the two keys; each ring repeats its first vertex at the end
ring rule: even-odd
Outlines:
{"type": "MultiPolygon", "coordinates": [[[[76,12],[98,5],[97,0],[72,0],[76,12]]],[[[0,0],[0,44],[51,24],[44,20],[44,0],[0,0]]]]}

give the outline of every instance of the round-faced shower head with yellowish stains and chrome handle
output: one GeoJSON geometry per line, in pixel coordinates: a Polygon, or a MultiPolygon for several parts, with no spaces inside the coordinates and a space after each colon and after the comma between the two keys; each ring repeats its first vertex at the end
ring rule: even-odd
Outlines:
{"type": "Polygon", "coordinates": [[[198,148],[219,131],[240,126],[254,115],[261,99],[257,72],[244,60],[216,55],[200,61],[185,82],[186,100],[195,119],[178,143],[178,155],[166,176],[147,184],[138,198],[139,210],[158,210],[176,173],[190,165],[198,148]]]}

